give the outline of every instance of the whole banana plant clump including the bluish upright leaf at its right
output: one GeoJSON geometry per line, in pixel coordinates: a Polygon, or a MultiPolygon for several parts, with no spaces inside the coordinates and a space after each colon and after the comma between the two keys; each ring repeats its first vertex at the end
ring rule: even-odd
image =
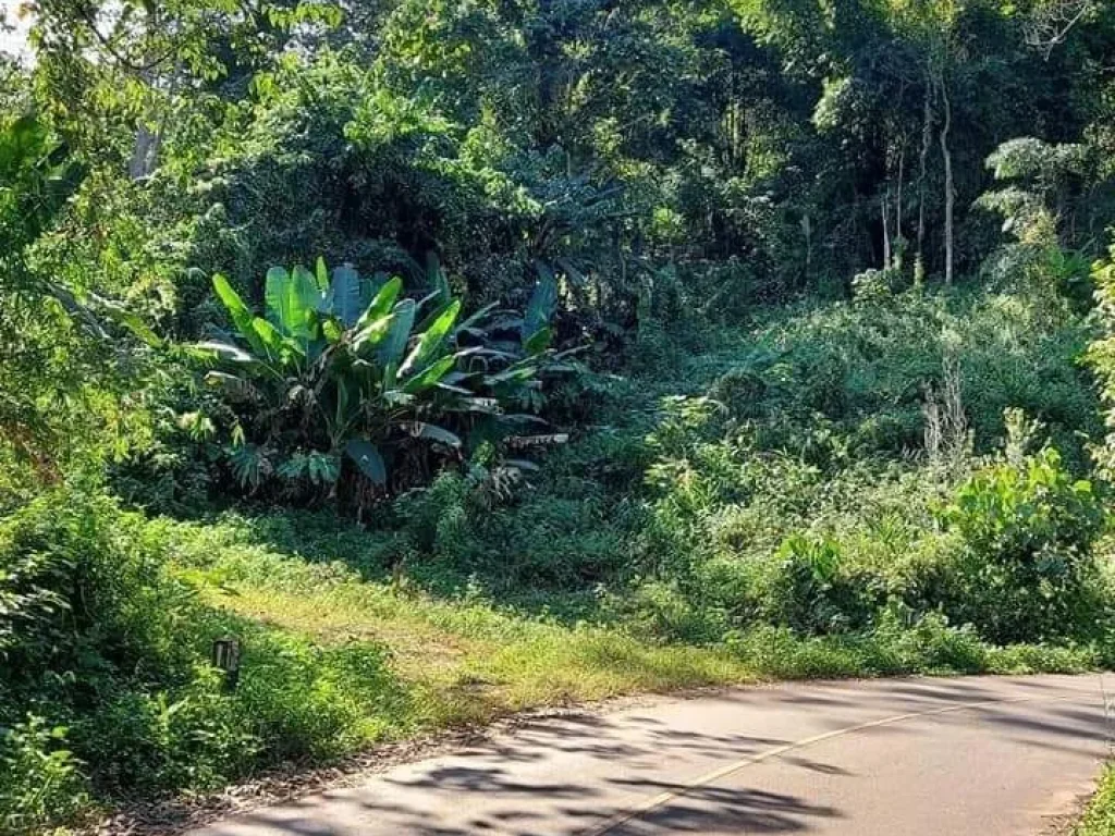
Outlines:
{"type": "Polygon", "coordinates": [[[217,341],[194,350],[222,367],[206,381],[232,412],[231,469],[253,492],[278,479],[295,494],[336,495],[349,465],[374,490],[392,476],[406,485],[395,474],[408,456],[414,466],[414,441],[455,455],[463,430],[498,434],[522,418],[504,407],[533,406],[527,395],[556,368],[552,283],[540,283],[517,325],[506,312],[494,321],[491,307],[462,320],[447,285],[415,302],[400,297],[398,276],[374,283],[345,266],[330,278],[321,261],[316,275],[268,272],[265,318],[224,276],[213,283],[246,350],[217,341]],[[517,344],[493,341],[508,329],[517,344]]]}

